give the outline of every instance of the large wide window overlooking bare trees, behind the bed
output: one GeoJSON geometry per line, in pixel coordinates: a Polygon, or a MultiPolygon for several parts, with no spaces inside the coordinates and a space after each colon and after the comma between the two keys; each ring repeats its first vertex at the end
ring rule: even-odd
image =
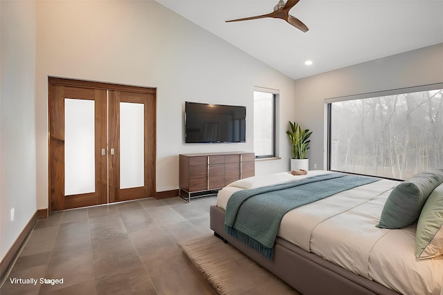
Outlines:
{"type": "Polygon", "coordinates": [[[330,170],[405,180],[443,167],[443,84],[326,102],[330,170]]]}

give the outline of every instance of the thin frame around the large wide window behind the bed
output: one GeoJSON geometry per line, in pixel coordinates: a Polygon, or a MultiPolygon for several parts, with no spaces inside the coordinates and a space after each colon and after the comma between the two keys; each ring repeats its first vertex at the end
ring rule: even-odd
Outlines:
{"type": "MultiPolygon", "coordinates": [[[[382,96],[389,96],[389,95],[401,95],[401,94],[406,94],[406,93],[433,91],[433,90],[439,90],[439,89],[443,89],[443,82],[442,83],[435,83],[435,84],[420,85],[420,86],[411,86],[411,87],[405,87],[405,88],[396,88],[396,89],[390,89],[387,91],[375,91],[372,93],[362,93],[362,94],[357,94],[357,95],[346,95],[346,96],[341,96],[341,97],[332,97],[332,98],[325,99],[325,117],[327,118],[326,124],[325,124],[325,132],[326,132],[325,137],[327,138],[327,142],[325,144],[327,171],[343,172],[343,173],[356,174],[356,175],[367,175],[367,174],[352,173],[352,172],[332,169],[332,124],[331,124],[331,120],[332,120],[332,104],[334,102],[345,102],[345,101],[350,101],[350,100],[367,99],[367,98],[372,98],[372,97],[382,97],[382,96]]],[[[390,179],[390,180],[400,180],[397,178],[388,178],[388,177],[383,177],[380,175],[368,175],[368,176],[374,176],[374,177],[385,178],[385,179],[390,179]]]]}

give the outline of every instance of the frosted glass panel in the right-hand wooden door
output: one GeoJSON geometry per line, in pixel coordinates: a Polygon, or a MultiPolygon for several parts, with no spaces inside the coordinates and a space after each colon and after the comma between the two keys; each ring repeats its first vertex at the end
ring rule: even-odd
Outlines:
{"type": "Polygon", "coordinates": [[[120,102],[120,189],[143,187],[144,105],[120,102]]]}

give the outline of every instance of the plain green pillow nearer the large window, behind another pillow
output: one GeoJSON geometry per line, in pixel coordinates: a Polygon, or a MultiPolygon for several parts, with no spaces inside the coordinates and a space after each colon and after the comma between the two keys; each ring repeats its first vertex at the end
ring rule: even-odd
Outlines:
{"type": "Polygon", "coordinates": [[[442,183],[442,169],[418,173],[401,182],[386,200],[377,227],[399,229],[414,223],[428,196],[442,183]]]}

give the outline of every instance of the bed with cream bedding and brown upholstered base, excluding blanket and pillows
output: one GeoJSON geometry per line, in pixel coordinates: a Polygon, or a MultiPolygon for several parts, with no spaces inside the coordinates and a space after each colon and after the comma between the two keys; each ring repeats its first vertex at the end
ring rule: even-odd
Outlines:
{"type": "MultiPolygon", "coordinates": [[[[400,229],[379,227],[383,207],[399,181],[377,179],[287,212],[271,259],[226,233],[225,210],[236,192],[332,174],[284,172],[233,182],[219,191],[217,204],[210,208],[210,228],[302,294],[443,295],[443,253],[417,259],[417,222],[400,229]]],[[[440,187],[443,191],[443,184],[440,187]]]]}

